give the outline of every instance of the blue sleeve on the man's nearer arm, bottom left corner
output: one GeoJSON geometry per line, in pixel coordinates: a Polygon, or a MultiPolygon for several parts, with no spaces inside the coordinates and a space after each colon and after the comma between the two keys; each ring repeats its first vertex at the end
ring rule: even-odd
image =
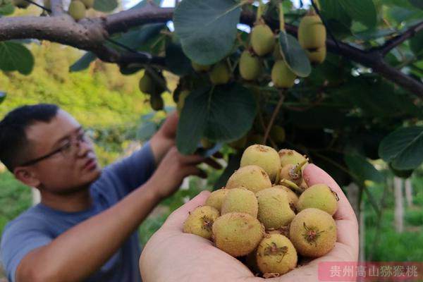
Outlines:
{"type": "Polygon", "coordinates": [[[20,261],[37,247],[47,245],[53,240],[43,231],[39,221],[22,219],[6,226],[1,237],[1,262],[6,270],[8,281],[16,281],[16,269],[20,261]]]}

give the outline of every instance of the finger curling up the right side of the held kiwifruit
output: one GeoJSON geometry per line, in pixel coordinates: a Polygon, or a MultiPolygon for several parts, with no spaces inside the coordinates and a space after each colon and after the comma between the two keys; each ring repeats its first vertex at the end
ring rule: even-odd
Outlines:
{"type": "Polygon", "coordinates": [[[323,183],[328,185],[339,197],[338,209],[333,215],[338,229],[338,242],[358,250],[358,224],[353,207],[331,176],[314,164],[308,164],[303,171],[307,185],[323,183]]]}

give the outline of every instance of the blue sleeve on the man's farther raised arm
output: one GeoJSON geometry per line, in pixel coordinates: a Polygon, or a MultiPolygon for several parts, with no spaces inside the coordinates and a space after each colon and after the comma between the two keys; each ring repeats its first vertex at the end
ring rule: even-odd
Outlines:
{"type": "MultiPolygon", "coordinates": [[[[106,173],[112,173],[123,184],[123,193],[126,195],[145,183],[154,170],[156,164],[150,142],[146,142],[141,149],[137,150],[129,157],[111,164],[104,168],[106,173]]],[[[120,186],[120,185],[119,185],[120,186]]]]}

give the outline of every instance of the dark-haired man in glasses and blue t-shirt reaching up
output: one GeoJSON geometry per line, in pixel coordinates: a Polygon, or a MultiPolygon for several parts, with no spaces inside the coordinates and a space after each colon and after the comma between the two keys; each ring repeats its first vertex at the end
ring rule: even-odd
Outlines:
{"type": "Polygon", "coordinates": [[[176,114],[142,149],[101,171],[91,140],[66,111],[22,106],[0,122],[0,160],[41,202],[8,223],[1,260],[12,282],[140,281],[137,226],[211,159],[182,156],[176,114]]]}

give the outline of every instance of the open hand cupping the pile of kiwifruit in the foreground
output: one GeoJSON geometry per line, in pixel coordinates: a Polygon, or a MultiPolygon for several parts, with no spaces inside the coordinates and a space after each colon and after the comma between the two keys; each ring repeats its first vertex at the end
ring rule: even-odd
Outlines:
{"type": "MultiPolygon", "coordinates": [[[[303,176],[307,185],[324,183],[338,194],[338,209],[333,215],[338,233],[337,240],[329,253],[310,262],[303,262],[281,277],[272,278],[271,281],[274,282],[320,281],[320,262],[348,262],[352,267],[357,264],[358,223],[347,197],[335,180],[314,164],[307,164],[303,176]]],[[[188,212],[204,205],[208,196],[209,192],[202,192],[177,209],[148,241],[140,258],[142,281],[265,281],[264,278],[255,277],[238,259],[214,247],[211,241],[183,233],[183,223],[188,217],[188,212]]]]}

